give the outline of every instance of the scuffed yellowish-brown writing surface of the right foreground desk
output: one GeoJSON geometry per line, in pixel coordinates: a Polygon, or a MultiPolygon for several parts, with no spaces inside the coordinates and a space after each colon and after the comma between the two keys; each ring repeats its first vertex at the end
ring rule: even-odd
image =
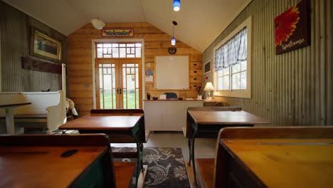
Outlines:
{"type": "Polygon", "coordinates": [[[333,139],[221,139],[268,187],[332,187],[333,139]]]}

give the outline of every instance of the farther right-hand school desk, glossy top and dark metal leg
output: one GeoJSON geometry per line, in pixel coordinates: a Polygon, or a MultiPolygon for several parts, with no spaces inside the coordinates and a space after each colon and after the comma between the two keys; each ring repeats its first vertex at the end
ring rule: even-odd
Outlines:
{"type": "Polygon", "coordinates": [[[247,113],[238,107],[197,107],[187,108],[185,136],[189,144],[189,163],[193,165],[194,185],[196,186],[196,168],[194,157],[194,141],[198,138],[217,137],[223,127],[253,126],[268,124],[268,120],[247,113]]]}

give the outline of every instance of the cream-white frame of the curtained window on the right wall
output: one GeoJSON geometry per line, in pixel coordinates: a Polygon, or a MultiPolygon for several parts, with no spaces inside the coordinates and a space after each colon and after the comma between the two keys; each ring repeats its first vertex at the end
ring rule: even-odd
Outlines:
{"type": "MultiPolygon", "coordinates": [[[[247,46],[247,67],[246,67],[246,89],[245,90],[232,90],[232,81],[231,76],[230,84],[229,84],[229,90],[216,90],[216,92],[213,93],[214,96],[223,96],[223,97],[235,97],[235,98],[252,98],[252,18],[251,16],[248,17],[243,23],[241,23],[233,32],[231,32],[226,38],[221,41],[221,43],[218,43],[218,45],[213,49],[214,58],[213,58],[213,80],[214,85],[217,86],[217,72],[215,71],[215,61],[216,61],[216,51],[218,48],[223,46],[229,39],[231,39],[233,36],[236,35],[240,30],[242,30],[244,27],[248,29],[248,46],[247,46]]],[[[231,69],[230,69],[231,71],[231,69]]],[[[231,72],[230,72],[231,75],[231,72]]],[[[217,88],[217,87],[216,87],[217,88]]]]}

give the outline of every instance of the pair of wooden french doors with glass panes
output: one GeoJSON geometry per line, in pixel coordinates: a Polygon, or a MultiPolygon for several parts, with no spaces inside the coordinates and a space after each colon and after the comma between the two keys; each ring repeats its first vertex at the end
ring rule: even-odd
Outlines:
{"type": "Polygon", "coordinates": [[[142,108],[141,59],[96,59],[98,109],[142,108]]]}

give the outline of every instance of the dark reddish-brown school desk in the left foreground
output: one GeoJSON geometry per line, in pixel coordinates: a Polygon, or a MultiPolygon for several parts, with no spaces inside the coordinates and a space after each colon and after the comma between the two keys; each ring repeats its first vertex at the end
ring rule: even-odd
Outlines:
{"type": "Polygon", "coordinates": [[[115,187],[106,135],[0,136],[0,187],[115,187]]]}

